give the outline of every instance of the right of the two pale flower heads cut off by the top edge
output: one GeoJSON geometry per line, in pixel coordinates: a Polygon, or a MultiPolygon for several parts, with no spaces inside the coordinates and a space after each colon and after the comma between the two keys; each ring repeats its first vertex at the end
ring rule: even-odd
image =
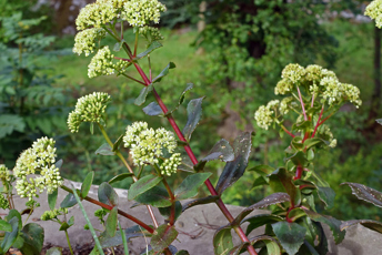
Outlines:
{"type": "Polygon", "coordinates": [[[163,11],[165,6],[158,0],[130,0],[124,2],[121,18],[132,27],[143,27],[150,21],[159,23],[163,11]]]}

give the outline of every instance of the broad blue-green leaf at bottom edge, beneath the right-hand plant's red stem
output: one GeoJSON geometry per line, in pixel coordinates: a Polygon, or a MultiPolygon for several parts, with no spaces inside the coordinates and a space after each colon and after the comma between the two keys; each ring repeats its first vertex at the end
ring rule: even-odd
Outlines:
{"type": "Polygon", "coordinates": [[[296,223],[278,222],[272,224],[273,232],[289,255],[299,252],[304,242],[306,230],[296,223]]]}

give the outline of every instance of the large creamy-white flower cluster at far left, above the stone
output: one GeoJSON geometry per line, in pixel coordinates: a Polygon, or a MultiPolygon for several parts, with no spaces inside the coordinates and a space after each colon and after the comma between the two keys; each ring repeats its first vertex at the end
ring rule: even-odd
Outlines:
{"type": "Polygon", "coordinates": [[[37,192],[52,193],[62,183],[63,180],[60,176],[59,169],[56,163],[56,141],[48,137],[38,139],[32,147],[23,151],[16,162],[13,174],[18,178],[16,182],[17,193],[21,197],[37,196],[37,192]],[[30,177],[29,174],[36,174],[40,172],[40,175],[36,178],[30,177]]]}

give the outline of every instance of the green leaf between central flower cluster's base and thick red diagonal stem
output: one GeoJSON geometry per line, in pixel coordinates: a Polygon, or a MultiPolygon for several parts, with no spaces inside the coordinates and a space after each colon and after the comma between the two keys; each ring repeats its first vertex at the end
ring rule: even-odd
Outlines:
{"type": "Polygon", "coordinates": [[[187,200],[198,195],[198,190],[212,173],[197,173],[187,176],[183,182],[175,190],[174,195],[177,200],[187,200]]]}

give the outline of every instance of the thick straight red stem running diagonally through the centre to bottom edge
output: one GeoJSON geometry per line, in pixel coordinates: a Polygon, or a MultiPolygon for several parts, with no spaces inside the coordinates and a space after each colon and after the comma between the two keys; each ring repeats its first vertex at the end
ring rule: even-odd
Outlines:
{"type": "MultiPolygon", "coordinates": [[[[145,75],[145,73],[143,72],[143,70],[141,69],[141,67],[138,63],[134,63],[134,67],[137,69],[137,71],[139,72],[139,74],[141,74],[142,79],[144,80],[144,82],[147,83],[147,85],[150,85],[150,80],[148,79],[148,76],[145,75]]],[[[159,96],[158,92],[155,91],[155,89],[152,89],[152,93],[159,104],[159,106],[162,109],[163,113],[167,114],[169,112],[168,108],[165,106],[165,104],[163,103],[162,99],[159,96]]],[[[167,119],[169,120],[172,129],[175,131],[180,141],[182,142],[187,142],[187,140],[184,139],[184,135],[182,134],[182,132],[180,131],[175,120],[173,119],[173,116],[171,114],[167,115],[167,119]]],[[[190,160],[192,161],[192,163],[195,165],[198,164],[198,160],[195,157],[195,155],[193,154],[191,147],[189,144],[184,145],[184,150],[187,152],[187,154],[189,155],[190,160]]],[[[218,195],[217,191],[214,190],[212,183],[210,180],[207,180],[204,182],[205,186],[209,188],[211,195],[218,195]]],[[[220,208],[220,211],[224,214],[224,216],[227,217],[227,220],[232,223],[233,222],[233,216],[231,215],[231,213],[228,211],[225,204],[223,203],[223,201],[221,198],[219,198],[217,201],[217,205],[220,208]]],[[[243,232],[243,230],[240,226],[235,226],[233,227],[233,230],[237,232],[237,234],[239,235],[240,239],[243,243],[250,243],[250,241],[248,239],[245,233],[243,232]]],[[[249,245],[247,247],[248,252],[251,255],[258,255],[258,253],[255,252],[255,249],[253,248],[252,245],[249,245]]]]}

